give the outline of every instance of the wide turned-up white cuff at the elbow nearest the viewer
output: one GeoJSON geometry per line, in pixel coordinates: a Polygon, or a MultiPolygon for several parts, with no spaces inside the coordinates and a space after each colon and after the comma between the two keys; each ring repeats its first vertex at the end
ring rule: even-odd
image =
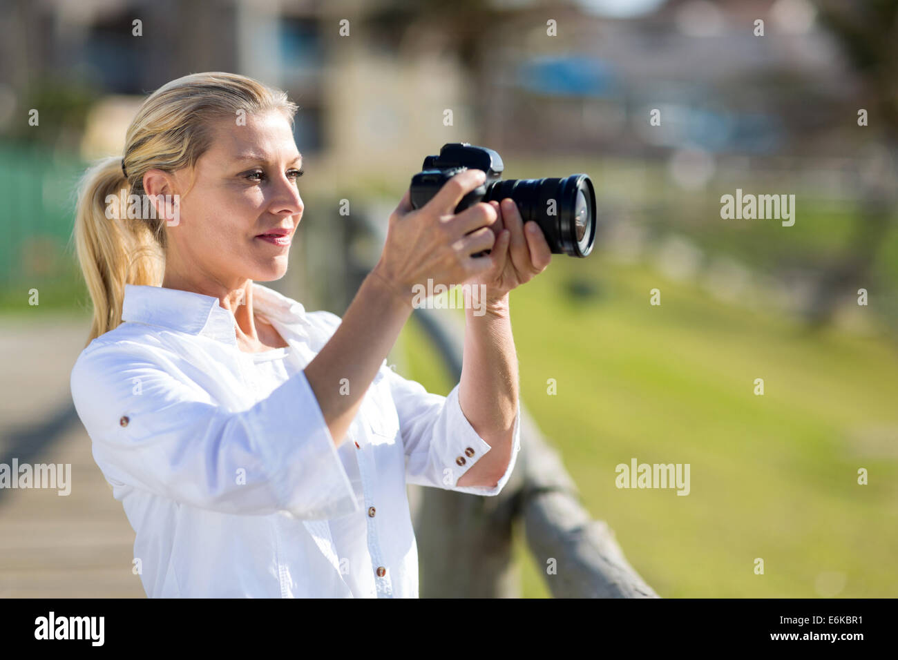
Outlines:
{"type": "Polygon", "coordinates": [[[288,514],[324,520],[361,508],[305,372],[289,378],[251,410],[245,418],[250,434],[270,428],[271,418],[281,420],[281,433],[258,437],[258,442],[277,500],[288,514]]]}

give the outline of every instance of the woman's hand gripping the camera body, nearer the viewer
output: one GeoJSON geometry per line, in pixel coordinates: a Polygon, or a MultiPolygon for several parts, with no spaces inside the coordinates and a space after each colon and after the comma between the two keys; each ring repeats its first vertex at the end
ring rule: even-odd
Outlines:
{"type": "Polygon", "coordinates": [[[410,304],[413,286],[452,286],[492,267],[489,256],[471,257],[489,250],[496,241],[490,225],[497,220],[496,209],[479,202],[454,215],[462,198],[486,180],[481,170],[465,170],[447,180],[426,205],[411,207],[406,190],[399,206],[390,215],[387,238],[374,274],[392,286],[410,304]]]}

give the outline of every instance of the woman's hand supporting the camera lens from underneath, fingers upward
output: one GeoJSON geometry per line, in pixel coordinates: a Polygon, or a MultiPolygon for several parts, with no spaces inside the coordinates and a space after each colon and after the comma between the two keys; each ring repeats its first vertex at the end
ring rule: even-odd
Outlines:
{"type": "Polygon", "coordinates": [[[489,204],[498,214],[496,222],[490,225],[496,234],[496,242],[489,256],[480,259],[491,260],[493,267],[472,282],[486,285],[487,300],[497,302],[513,288],[545,270],[552,255],[540,225],[533,221],[524,224],[513,199],[505,198],[502,204],[495,201],[489,204]]]}

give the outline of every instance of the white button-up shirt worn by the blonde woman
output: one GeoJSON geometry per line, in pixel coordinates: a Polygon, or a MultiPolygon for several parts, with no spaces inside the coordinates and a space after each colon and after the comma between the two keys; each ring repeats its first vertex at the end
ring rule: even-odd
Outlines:
{"type": "Polygon", "coordinates": [[[252,286],[254,311],[288,348],[242,352],[215,297],[126,285],[123,322],[72,370],[146,594],[417,597],[406,483],[497,495],[520,449],[520,408],[497,486],[459,487],[490,447],[458,385],[429,393],[384,360],[337,447],[303,369],[339,317],[252,286]]]}

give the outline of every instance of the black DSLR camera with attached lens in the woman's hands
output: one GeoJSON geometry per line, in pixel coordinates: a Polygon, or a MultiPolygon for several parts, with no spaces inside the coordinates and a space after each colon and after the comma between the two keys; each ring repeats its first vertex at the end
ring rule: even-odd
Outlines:
{"type": "MultiPolygon", "coordinates": [[[[512,198],[524,223],[539,224],[553,254],[585,257],[595,242],[595,191],[585,174],[563,179],[506,179],[499,177],[502,158],[492,149],[467,142],[443,145],[440,154],[424,159],[422,171],[411,178],[411,206],[423,207],[455,174],[482,170],[487,180],[462,198],[454,213],[478,202],[512,198]]],[[[473,255],[479,257],[489,250],[473,255]]]]}

